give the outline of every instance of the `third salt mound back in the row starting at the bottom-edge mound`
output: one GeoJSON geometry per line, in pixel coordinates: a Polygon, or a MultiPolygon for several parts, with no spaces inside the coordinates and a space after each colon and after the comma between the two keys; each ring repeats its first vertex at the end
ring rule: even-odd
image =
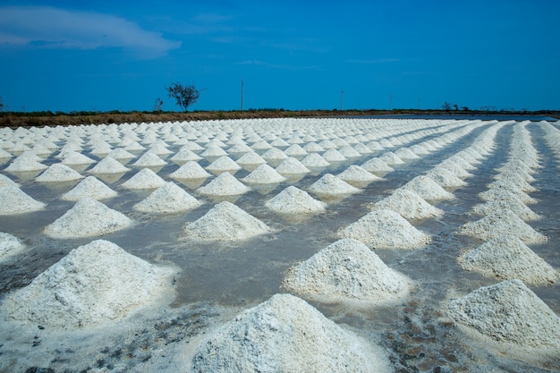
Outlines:
{"type": "Polygon", "coordinates": [[[431,239],[414,228],[393,210],[378,209],[338,232],[339,237],[353,238],[372,249],[416,249],[431,239]]]}

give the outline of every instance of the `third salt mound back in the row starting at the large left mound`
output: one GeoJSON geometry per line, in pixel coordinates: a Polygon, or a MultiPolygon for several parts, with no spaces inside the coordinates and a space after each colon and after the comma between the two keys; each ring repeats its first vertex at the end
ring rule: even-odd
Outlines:
{"type": "Polygon", "coordinates": [[[278,214],[316,214],[325,211],[327,204],[313,199],[307,191],[290,185],[272,199],[268,199],[265,206],[278,214]]]}

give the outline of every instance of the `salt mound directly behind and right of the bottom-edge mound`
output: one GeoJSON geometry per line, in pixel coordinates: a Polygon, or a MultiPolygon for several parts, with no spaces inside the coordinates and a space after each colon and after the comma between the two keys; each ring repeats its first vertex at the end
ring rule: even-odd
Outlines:
{"type": "Polygon", "coordinates": [[[283,286],[291,292],[325,301],[383,304],[399,301],[412,280],[387,267],[363,243],[342,239],[290,268],[283,286]]]}

